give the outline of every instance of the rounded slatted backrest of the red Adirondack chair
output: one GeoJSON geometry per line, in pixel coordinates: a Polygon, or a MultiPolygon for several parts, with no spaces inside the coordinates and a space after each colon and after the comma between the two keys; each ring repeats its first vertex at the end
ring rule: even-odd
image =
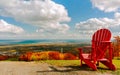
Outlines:
{"type": "MultiPolygon", "coordinates": [[[[102,41],[110,41],[111,32],[108,29],[99,29],[97,30],[92,37],[92,55],[96,57],[96,59],[101,59],[105,56],[106,49],[108,44],[102,43],[102,41]]],[[[94,58],[93,57],[93,58],[94,58]]]]}

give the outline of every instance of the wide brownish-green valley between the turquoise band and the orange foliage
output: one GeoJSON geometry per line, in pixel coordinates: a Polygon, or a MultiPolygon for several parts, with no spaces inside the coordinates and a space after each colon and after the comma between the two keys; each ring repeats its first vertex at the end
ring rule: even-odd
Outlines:
{"type": "Polygon", "coordinates": [[[79,51],[76,49],[88,44],[77,43],[46,43],[46,44],[20,44],[0,46],[0,55],[19,57],[26,52],[58,51],[61,53],[72,53],[76,56],[79,51]]]}

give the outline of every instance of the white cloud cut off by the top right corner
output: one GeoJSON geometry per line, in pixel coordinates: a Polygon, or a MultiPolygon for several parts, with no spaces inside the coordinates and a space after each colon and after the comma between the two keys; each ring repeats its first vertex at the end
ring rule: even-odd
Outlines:
{"type": "Polygon", "coordinates": [[[105,12],[120,11],[120,0],[91,0],[94,7],[105,12]]]}

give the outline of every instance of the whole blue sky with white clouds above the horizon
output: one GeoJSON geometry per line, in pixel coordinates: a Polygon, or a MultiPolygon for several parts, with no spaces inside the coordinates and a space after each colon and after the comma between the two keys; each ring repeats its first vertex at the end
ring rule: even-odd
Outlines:
{"type": "Polygon", "coordinates": [[[120,35],[120,0],[1,0],[0,39],[90,39],[120,35]]]}

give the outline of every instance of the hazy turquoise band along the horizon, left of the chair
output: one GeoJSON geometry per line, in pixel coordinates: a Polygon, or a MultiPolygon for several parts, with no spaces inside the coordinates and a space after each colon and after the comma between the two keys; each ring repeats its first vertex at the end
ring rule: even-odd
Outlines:
{"type": "Polygon", "coordinates": [[[37,44],[37,43],[87,43],[89,40],[75,40],[75,39],[40,39],[40,40],[0,40],[0,45],[9,44],[37,44]]]}

